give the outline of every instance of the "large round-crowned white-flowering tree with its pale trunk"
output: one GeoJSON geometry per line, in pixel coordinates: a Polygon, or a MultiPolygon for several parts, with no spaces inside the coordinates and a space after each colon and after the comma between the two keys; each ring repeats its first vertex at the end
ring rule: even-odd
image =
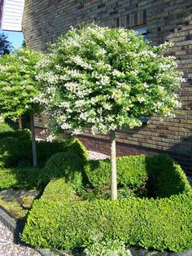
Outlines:
{"type": "Polygon", "coordinates": [[[168,46],[151,46],[127,29],[95,24],[71,29],[39,62],[43,92],[37,102],[50,114],[50,130],[73,135],[91,126],[111,134],[111,198],[117,197],[115,130],[141,126],[141,117],[172,117],[182,81],[168,46]]]}

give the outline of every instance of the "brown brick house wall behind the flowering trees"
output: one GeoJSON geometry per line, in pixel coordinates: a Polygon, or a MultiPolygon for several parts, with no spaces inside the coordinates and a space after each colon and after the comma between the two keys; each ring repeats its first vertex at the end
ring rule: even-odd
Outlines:
{"type": "MultiPolygon", "coordinates": [[[[119,155],[168,152],[187,173],[192,174],[192,2],[191,0],[26,0],[23,17],[24,38],[34,50],[46,51],[70,26],[80,22],[125,28],[146,28],[153,45],[174,42],[169,52],[176,55],[178,69],[186,82],[179,92],[182,109],[177,117],[150,123],[134,130],[116,133],[119,155]]],[[[43,117],[36,118],[37,135],[43,117]]],[[[90,135],[85,130],[81,140],[89,149],[109,152],[108,137],[90,135]]]]}

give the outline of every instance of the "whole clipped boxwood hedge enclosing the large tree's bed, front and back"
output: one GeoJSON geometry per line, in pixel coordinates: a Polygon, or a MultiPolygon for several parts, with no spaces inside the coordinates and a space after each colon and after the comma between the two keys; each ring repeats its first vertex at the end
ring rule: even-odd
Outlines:
{"type": "MultiPolygon", "coordinates": [[[[59,157],[62,154],[53,156],[50,170],[59,170],[59,157]]],[[[181,167],[164,155],[118,157],[117,166],[120,186],[140,188],[146,183],[155,196],[164,198],[83,200],[74,191],[73,179],[63,174],[62,179],[50,181],[33,205],[22,239],[37,247],[58,249],[86,247],[97,236],[106,242],[124,241],[128,246],[160,251],[191,249],[192,191],[181,167]]],[[[85,167],[88,183],[94,188],[106,188],[109,173],[109,160],[89,161],[85,167]]]]}

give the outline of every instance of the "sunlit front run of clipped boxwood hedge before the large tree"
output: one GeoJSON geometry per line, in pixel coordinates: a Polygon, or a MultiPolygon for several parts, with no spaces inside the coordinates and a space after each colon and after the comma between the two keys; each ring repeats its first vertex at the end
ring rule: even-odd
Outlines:
{"type": "Polygon", "coordinates": [[[103,236],[103,241],[124,241],[160,251],[192,248],[192,192],[156,200],[73,203],[49,200],[51,197],[43,196],[34,203],[23,241],[37,247],[69,249],[87,246],[93,236],[103,236]]]}

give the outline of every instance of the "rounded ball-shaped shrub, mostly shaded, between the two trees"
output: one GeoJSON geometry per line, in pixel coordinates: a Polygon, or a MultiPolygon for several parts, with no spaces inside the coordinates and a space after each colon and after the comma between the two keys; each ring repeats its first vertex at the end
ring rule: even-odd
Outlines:
{"type": "Polygon", "coordinates": [[[41,182],[46,184],[50,182],[50,179],[63,177],[77,189],[82,185],[83,170],[84,161],[81,157],[69,151],[58,152],[46,161],[41,174],[41,182]]]}

